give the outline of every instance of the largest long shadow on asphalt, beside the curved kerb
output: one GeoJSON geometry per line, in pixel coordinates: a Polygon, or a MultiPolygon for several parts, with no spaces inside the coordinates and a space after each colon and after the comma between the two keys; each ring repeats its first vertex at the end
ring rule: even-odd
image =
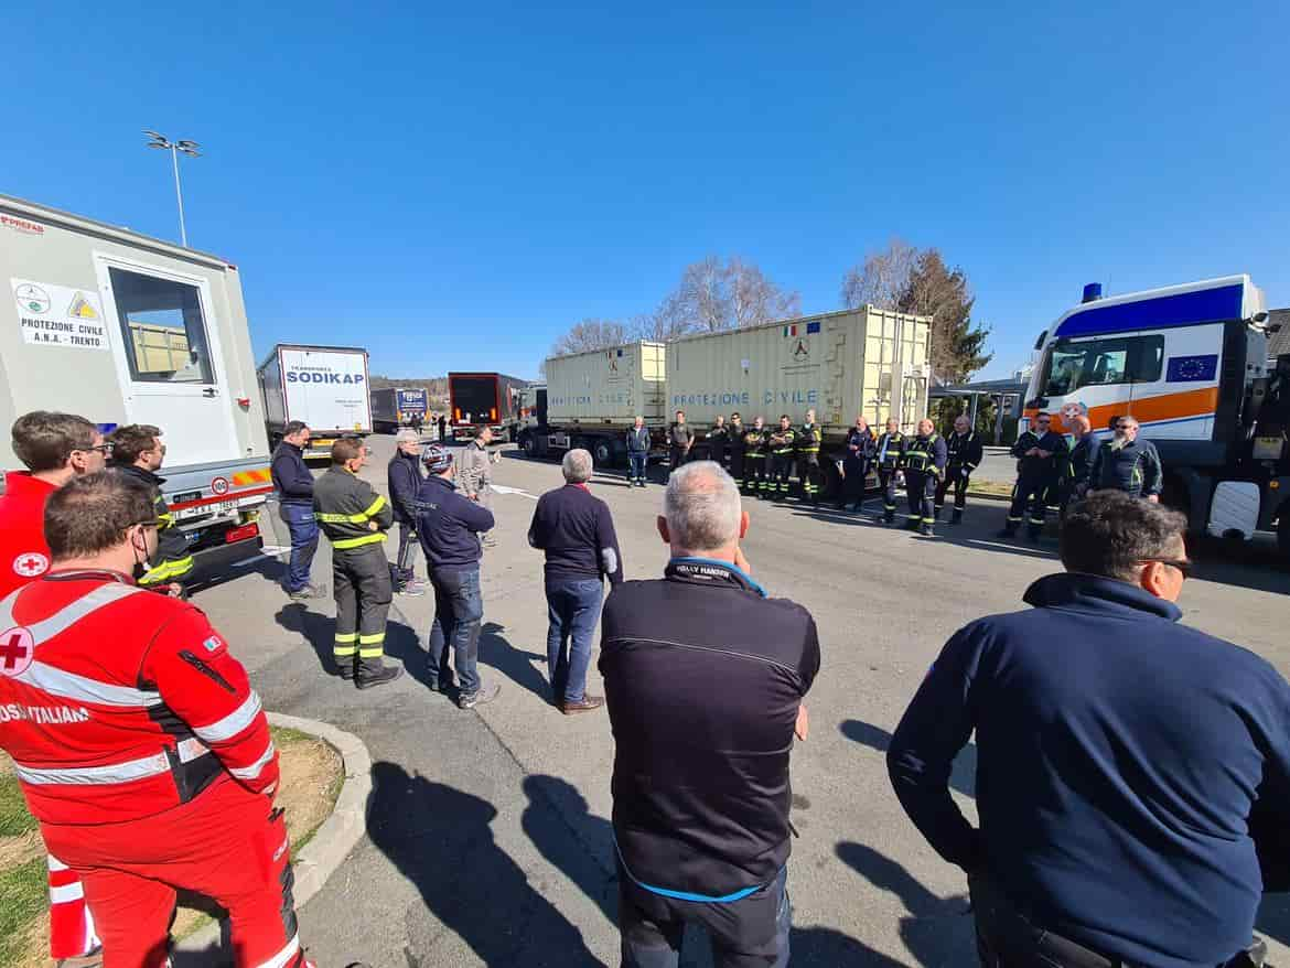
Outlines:
{"type": "MultiPolygon", "coordinates": [[[[409,776],[395,763],[372,768],[368,836],[421,892],[426,907],[486,965],[599,965],[582,933],[498,847],[486,800],[409,776]]],[[[427,941],[426,943],[430,943],[427,941]]],[[[409,968],[442,964],[406,953],[409,968]]]]}

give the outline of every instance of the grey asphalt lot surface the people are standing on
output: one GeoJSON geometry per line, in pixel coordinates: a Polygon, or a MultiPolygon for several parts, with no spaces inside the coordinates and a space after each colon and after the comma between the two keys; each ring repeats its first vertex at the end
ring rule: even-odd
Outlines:
{"type": "MultiPolygon", "coordinates": [[[[373,438],[373,447],[366,474],[384,490],[392,439],[373,438]]],[[[535,496],[561,483],[560,470],[507,452],[495,478],[519,493],[494,502],[480,652],[502,693],[476,711],[424,685],[431,596],[395,600],[387,656],[410,675],[362,693],[326,671],[332,601],[288,601],[276,560],[197,596],[268,709],[334,723],[372,751],[369,836],[301,913],[302,940],[324,968],[357,959],[373,968],[618,964],[609,721],[547,705],[542,558],[525,541],[535,496]]],[[[627,577],[660,574],[662,488],[628,489],[615,474],[592,487],[613,510],[627,577]]],[[[823,648],[808,698],[811,736],[792,765],[801,834],[789,863],[792,963],[974,964],[964,878],[900,812],[884,749],[946,639],[973,618],[1020,607],[1029,582],[1058,568],[1053,549],[995,541],[998,502],[969,507],[964,525],[942,525],[935,539],[886,529],[871,514],[748,510],[753,573],[770,594],[811,609],[823,648]]],[[[393,556],[395,542],[387,549],[393,556]]],[[[330,583],[329,572],[324,542],[315,578],[330,583]]],[[[1290,672],[1290,576],[1269,561],[1207,555],[1180,604],[1186,622],[1290,672]]],[[[591,679],[600,692],[595,663],[591,679]]],[[[955,776],[969,813],[971,752],[955,776]]],[[[1265,920],[1290,937],[1286,911],[1265,920]]],[[[699,945],[682,959],[707,963],[699,945]]]]}

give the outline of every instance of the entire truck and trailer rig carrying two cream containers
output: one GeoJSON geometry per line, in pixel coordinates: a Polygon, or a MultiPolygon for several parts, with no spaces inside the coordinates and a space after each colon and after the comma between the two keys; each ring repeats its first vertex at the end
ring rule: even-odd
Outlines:
{"type": "Polygon", "coordinates": [[[780,414],[801,425],[814,409],[823,431],[820,465],[829,490],[840,481],[846,432],[863,414],[912,431],[928,412],[931,320],[862,306],[761,327],[630,343],[547,360],[546,421],[525,429],[533,456],[586,447],[597,463],[626,462],[623,431],[645,417],[662,449],[676,410],[703,434],[717,414],[738,410],[747,426],[780,414]]]}

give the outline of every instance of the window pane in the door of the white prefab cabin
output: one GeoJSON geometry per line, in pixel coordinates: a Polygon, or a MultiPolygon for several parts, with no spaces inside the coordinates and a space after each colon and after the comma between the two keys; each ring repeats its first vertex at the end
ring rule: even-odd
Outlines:
{"type": "Polygon", "coordinates": [[[213,383],[197,287],[108,271],[130,377],[143,383],[213,383]]]}

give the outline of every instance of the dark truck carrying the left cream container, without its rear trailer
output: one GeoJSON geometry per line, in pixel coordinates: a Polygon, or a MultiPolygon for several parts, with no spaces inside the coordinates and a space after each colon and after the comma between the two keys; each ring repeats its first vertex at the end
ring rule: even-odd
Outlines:
{"type": "Polygon", "coordinates": [[[645,418],[657,447],[667,427],[663,343],[636,342],[547,360],[544,404],[520,431],[530,457],[591,450],[597,465],[627,462],[627,429],[645,418]]]}

